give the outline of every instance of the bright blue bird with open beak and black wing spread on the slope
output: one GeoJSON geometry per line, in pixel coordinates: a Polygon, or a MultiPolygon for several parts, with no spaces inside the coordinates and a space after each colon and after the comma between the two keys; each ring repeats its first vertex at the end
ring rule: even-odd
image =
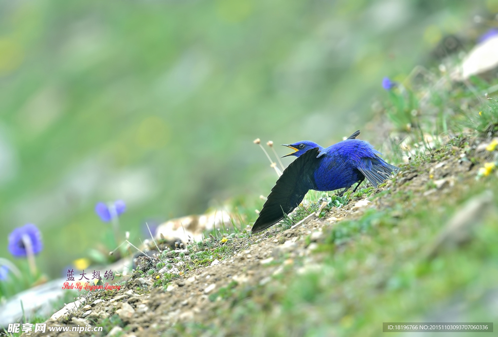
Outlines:
{"type": "MultiPolygon", "coordinates": [[[[283,219],[304,199],[309,190],[334,191],[349,189],[358,183],[354,191],[367,178],[377,187],[399,167],[386,163],[380,153],[364,140],[356,139],[360,131],[348,139],[327,148],[304,140],[294,144],[282,144],[296,156],[271,189],[263,209],[252,226],[252,233],[260,232],[283,219]]],[[[354,192],[353,191],[353,192],[354,192]]],[[[341,195],[342,195],[341,193],[341,195]]]]}

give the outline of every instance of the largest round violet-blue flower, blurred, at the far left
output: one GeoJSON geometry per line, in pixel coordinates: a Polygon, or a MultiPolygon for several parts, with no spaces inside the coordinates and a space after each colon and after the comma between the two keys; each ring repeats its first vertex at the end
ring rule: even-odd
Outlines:
{"type": "Polygon", "coordinates": [[[41,233],[33,224],[17,227],[8,235],[8,251],[12,255],[26,256],[26,245],[31,245],[33,254],[38,254],[43,248],[41,233]]]}

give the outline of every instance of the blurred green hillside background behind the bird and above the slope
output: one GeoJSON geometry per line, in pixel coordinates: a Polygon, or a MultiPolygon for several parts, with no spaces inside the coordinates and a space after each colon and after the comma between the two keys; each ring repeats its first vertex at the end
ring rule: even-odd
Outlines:
{"type": "Polygon", "coordinates": [[[126,202],[121,224],[136,242],[146,220],[256,200],[276,176],[254,138],[341,140],[372,118],[382,77],[403,78],[441,37],[496,9],[1,0],[0,256],[11,258],[8,233],[33,223],[40,268],[60,276],[111,233],[98,201],[126,202]]]}

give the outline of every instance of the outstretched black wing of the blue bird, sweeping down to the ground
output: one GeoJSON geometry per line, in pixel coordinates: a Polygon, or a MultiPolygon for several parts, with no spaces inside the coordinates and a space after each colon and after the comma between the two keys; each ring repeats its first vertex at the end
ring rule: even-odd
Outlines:
{"type": "Polygon", "coordinates": [[[316,157],[318,153],[318,147],[306,151],[283,171],[252,226],[252,233],[278,223],[303,201],[309,190],[316,188],[313,173],[320,162],[316,157]]]}

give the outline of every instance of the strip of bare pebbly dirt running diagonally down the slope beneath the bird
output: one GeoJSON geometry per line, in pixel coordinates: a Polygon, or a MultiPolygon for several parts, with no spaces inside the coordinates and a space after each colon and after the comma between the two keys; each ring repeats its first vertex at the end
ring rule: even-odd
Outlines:
{"type": "MultiPolygon", "coordinates": [[[[267,284],[274,275],[287,269],[304,273],[320,259],[313,251],[324,239],[323,232],[344,220],[355,220],[368,209],[393,209],[400,200],[396,196],[411,193],[417,198],[407,200],[404,208],[423,199],[451,198],[453,193],[465,190],[475,180],[478,165],[474,158],[485,160],[488,155],[480,148],[481,141],[470,137],[449,137],[445,145],[423,158],[411,158],[401,172],[373,194],[351,200],[342,208],[333,208],[325,217],[312,215],[294,228],[276,232],[275,228],[248,238],[233,238],[235,254],[224,260],[214,260],[210,266],[199,268],[173,279],[167,289],[153,287],[153,279],[135,278],[116,292],[93,292],[80,308],[58,320],[49,320],[49,326],[83,326],[107,324],[117,314],[126,329],[114,328],[109,336],[157,336],[178,322],[220,323],[217,313],[229,309],[223,293],[244,285],[267,284]],[[400,193],[402,192],[402,193],[400,193]],[[370,201],[371,200],[371,201],[370,201]],[[237,242],[238,241],[238,242],[237,242]],[[301,258],[302,264],[294,260],[301,258]],[[218,294],[218,295],[216,295],[218,294]],[[107,321],[106,321],[107,320],[107,321]]],[[[401,202],[403,202],[401,200],[401,202]]],[[[395,217],[395,211],[394,215],[395,217]]],[[[257,301],[258,299],[254,299],[257,301]]],[[[261,299],[263,300],[263,299],[261,299]]],[[[23,335],[24,336],[24,335],[23,335]]],[[[50,333],[25,336],[92,336],[91,333],[50,333]]],[[[105,336],[95,333],[95,336],[105,336]]]]}

